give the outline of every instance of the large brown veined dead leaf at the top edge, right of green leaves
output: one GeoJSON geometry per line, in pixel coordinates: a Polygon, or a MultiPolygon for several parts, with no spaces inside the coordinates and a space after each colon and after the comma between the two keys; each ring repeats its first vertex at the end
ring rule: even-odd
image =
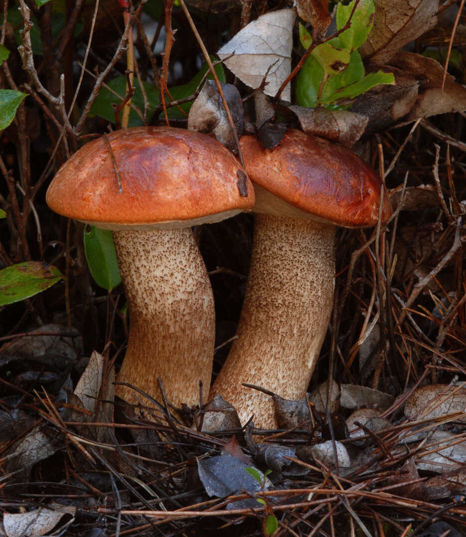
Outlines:
{"type": "Polygon", "coordinates": [[[438,0],[374,0],[372,31],[359,49],[370,61],[383,64],[407,43],[437,23],[438,0]]]}

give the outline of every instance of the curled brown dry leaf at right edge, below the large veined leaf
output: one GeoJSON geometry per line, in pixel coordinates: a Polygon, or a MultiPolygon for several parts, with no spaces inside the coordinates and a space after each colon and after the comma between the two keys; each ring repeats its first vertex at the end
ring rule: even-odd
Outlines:
{"type": "Polygon", "coordinates": [[[390,63],[419,80],[419,96],[405,121],[466,110],[466,86],[457,84],[453,76],[447,74],[442,93],[443,67],[438,61],[412,52],[400,52],[390,63]]]}

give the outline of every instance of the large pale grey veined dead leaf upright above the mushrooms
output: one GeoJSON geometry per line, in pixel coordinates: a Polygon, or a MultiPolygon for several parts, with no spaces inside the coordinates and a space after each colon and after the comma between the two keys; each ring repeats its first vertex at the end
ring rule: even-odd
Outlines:
{"type": "MultiPolygon", "coordinates": [[[[291,72],[294,20],[292,9],[261,15],[223,45],[217,54],[222,60],[235,54],[224,62],[225,66],[253,89],[260,88],[267,75],[264,93],[274,96],[291,72]]],[[[282,96],[290,100],[289,84],[282,96]]]]}

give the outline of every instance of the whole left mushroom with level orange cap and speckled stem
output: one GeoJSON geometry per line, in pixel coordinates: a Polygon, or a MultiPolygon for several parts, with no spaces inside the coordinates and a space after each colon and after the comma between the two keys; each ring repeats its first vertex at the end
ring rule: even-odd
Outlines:
{"type": "MultiPolygon", "coordinates": [[[[160,400],[160,376],[177,407],[199,402],[200,380],[210,385],[214,300],[189,228],[250,208],[253,188],[249,183],[245,195],[244,178],[220,143],[170,127],[104,135],[57,172],[47,191],[49,207],[113,231],[130,319],[118,381],[160,400]]],[[[133,401],[133,393],[117,386],[125,401],[133,401]]]]}

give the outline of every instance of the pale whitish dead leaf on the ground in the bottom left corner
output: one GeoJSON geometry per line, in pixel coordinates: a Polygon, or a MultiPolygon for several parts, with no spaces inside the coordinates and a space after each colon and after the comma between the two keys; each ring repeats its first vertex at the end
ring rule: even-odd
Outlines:
{"type": "Polygon", "coordinates": [[[75,520],[75,513],[76,507],[50,504],[27,513],[4,513],[3,527],[7,537],[61,535],[75,520]]]}

